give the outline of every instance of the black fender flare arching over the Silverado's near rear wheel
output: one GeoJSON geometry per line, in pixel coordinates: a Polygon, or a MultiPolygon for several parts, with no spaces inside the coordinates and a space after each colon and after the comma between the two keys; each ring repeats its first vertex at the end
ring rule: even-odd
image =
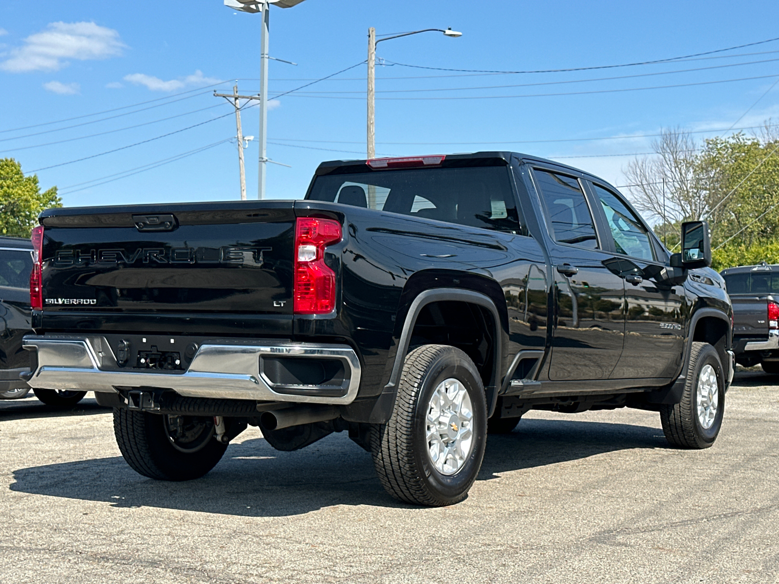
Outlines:
{"type": "Polygon", "coordinates": [[[425,305],[432,302],[439,301],[460,301],[467,302],[469,304],[478,304],[481,307],[487,308],[492,314],[492,322],[494,326],[494,338],[495,347],[493,350],[493,364],[492,364],[492,378],[489,385],[485,385],[485,394],[487,399],[488,416],[492,415],[495,410],[495,403],[498,397],[498,387],[501,380],[501,366],[502,366],[502,329],[500,313],[495,306],[495,302],[492,298],[486,294],[480,292],[474,292],[473,290],[462,290],[459,288],[432,288],[430,290],[424,290],[414,301],[411,302],[411,306],[408,308],[406,318],[403,323],[403,329],[400,332],[400,339],[398,339],[397,353],[395,354],[395,361],[390,373],[390,380],[382,389],[379,399],[376,400],[373,410],[371,412],[369,422],[372,424],[383,424],[386,420],[390,419],[392,415],[393,407],[395,406],[395,396],[397,395],[397,383],[400,379],[400,370],[403,368],[403,363],[408,354],[408,346],[411,343],[411,332],[414,330],[414,325],[417,323],[417,318],[422,308],[425,305]]]}

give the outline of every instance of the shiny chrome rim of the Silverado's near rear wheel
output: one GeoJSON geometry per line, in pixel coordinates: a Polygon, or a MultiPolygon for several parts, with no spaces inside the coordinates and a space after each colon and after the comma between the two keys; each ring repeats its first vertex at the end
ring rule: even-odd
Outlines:
{"type": "Polygon", "coordinates": [[[439,383],[428,403],[428,452],[435,470],[452,475],[463,468],[474,448],[471,396],[458,380],[439,383]]]}

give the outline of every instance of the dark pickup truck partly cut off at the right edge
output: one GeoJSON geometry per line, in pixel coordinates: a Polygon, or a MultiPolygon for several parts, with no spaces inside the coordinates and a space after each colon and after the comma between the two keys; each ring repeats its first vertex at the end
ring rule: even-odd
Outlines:
{"type": "Polygon", "coordinates": [[[779,266],[763,262],[724,269],[721,275],[733,303],[735,361],[779,374],[779,266]]]}

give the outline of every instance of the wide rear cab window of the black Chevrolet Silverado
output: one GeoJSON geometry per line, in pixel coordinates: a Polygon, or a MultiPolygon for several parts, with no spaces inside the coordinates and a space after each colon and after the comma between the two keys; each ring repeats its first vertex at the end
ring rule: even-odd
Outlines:
{"type": "Polygon", "coordinates": [[[347,165],[316,177],[306,199],[529,235],[506,164],[382,170],[347,165]]]}

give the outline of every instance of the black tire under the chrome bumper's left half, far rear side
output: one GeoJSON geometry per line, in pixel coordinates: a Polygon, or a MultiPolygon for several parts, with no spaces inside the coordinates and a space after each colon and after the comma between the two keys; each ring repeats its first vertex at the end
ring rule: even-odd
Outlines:
{"type": "Polygon", "coordinates": [[[114,434],[132,469],[158,480],[203,477],[217,466],[227,450],[226,444],[214,438],[213,417],[167,416],[115,408],[114,434]],[[171,420],[180,420],[182,427],[194,429],[183,439],[171,438],[171,420]]]}

